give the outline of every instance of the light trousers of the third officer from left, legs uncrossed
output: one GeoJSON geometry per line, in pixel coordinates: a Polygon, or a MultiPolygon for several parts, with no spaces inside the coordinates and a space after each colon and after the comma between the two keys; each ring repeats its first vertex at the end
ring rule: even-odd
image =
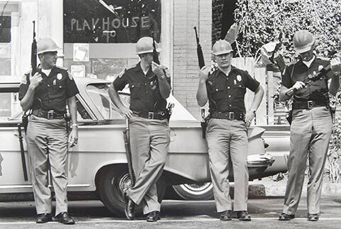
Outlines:
{"type": "Polygon", "coordinates": [[[247,127],[244,121],[211,118],[206,133],[210,174],[217,212],[232,210],[229,196],[229,158],[234,174],[234,211],[247,210],[247,127]]]}

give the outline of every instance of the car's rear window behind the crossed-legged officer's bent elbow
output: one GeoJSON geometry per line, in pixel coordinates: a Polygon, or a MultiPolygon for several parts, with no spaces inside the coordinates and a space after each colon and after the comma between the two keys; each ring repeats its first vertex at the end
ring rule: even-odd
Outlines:
{"type": "MultiPolygon", "coordinates": [[[[87,86],[87,92],[104,119],[123,118],[119,113],[119,108],[112,103],[108,90],[108,84],[90,84],[87,86]]],[[[129,106],[129,94],[120,94],[119,96],[124,105],[129,106]]]]}

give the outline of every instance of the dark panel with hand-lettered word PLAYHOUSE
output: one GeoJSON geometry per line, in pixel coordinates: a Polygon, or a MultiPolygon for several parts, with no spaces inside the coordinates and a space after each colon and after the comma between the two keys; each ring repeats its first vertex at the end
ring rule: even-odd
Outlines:
{"type": "Polygon", "coordinates": [[[64,43],[136,43],[161,33],[161,0],[64,0],[64,43]]]}

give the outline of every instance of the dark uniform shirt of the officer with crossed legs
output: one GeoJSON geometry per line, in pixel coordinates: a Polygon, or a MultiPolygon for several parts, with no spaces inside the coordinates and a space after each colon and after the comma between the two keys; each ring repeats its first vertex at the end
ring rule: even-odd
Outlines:
{"type": "MultiPolygon", "coordinates": [[[[171,85],[171,78],[166,77],[166,80],[171,85]]],[[[139,62],[136,67],[127,69],[113,82],[116,91],[124,89],[126,84],[129,84],[132,111],[155,112],[166,109],[167,101],[161,96],[158,77],[151,67],[145,75],[139,62]]]]}

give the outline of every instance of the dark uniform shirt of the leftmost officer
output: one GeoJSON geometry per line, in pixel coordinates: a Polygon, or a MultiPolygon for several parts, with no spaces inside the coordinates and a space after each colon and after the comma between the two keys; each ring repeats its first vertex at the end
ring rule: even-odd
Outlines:
{"type": "MultiPolygon", "coordinates": [[[[34,92],[32,110],[42,108],[45,111],[54,110],[65,112],[66,99],[79,93],[71,74],[67,69],[52,67],[48,76],[39,70],[43,80],[34,92]]],[[[31,72],[23,76],[19,88],[19,99],[23,99],[30,85],[31,72]]]]}

